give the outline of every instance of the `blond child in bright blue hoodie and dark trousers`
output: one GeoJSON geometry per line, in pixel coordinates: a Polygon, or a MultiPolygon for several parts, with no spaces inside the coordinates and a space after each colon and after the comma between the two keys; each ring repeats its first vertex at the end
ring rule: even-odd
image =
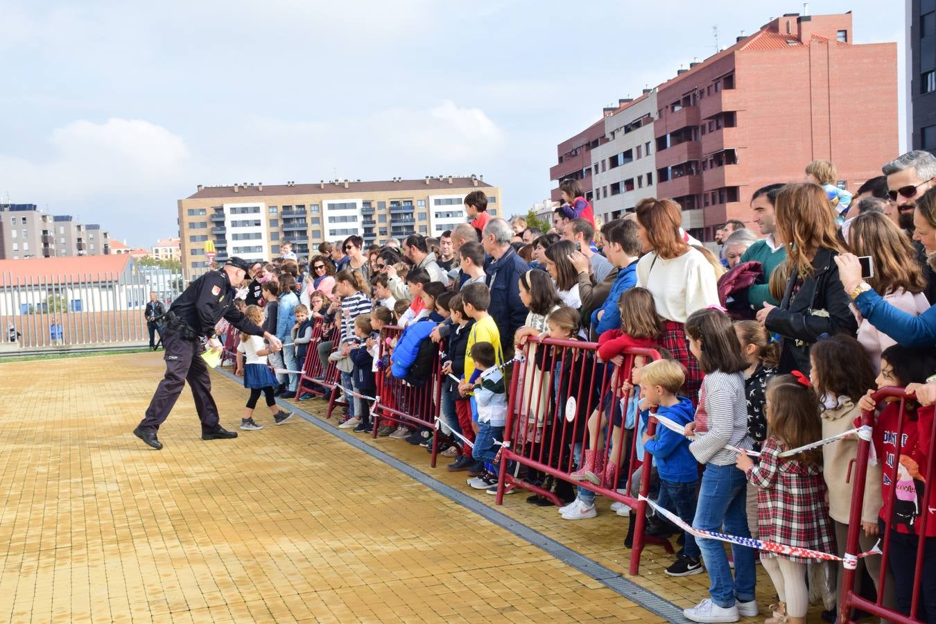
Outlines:
{"type": "MultiPolygon", "coordinates": [[[[677,396],[685,382],[686,375],[679,363],[668,359],[651,362],[640,370],[640,395],[645,407],[656,407],[658,415],[681,426],[692,422],[692,399],[677,396]]],[[[656,460],[660,476],[657,503],[692,524],[699,477],[698,464],[689,451],[689,441],[684,435],[657,425],[655,436],[644,433],[643,444],[656,460]]],[[[665,570],[670,576],[691,576],[702,572],[701,551],[695,544],[695,538],[686,532],[684,539],[681,556],[665,570]]]]}

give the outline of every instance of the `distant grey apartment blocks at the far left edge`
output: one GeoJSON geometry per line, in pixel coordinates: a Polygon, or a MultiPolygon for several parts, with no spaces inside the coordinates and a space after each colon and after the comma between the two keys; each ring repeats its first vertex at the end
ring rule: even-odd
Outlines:
{"type": "Polygon", "coordinates": [[[49,214],[36,204],[0,204],[0,258],[53,258],[110,254],[110,234],[100,225],[49,214]]]}

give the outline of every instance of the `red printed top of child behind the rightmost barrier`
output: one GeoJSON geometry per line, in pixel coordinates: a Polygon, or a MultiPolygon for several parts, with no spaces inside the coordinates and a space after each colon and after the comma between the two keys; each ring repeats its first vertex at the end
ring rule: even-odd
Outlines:
{"type": "MultiPolygon", "coordinates": [[[[933,407],[920,407],[915,414],[901,415],[899,401],[887,403],[874,426],[872,443],[883,469],[881,492],[884,507],[880,517],[885,521],[890,517],[891,528],[900,533],[918,534],[923,515],[927,514],[926,536],[936,537],[936,484],[925,483],[933,480],[927,479],[926,475],[932,428],[933,407]],[[903,427],[898,445],[897,431],[901,420],[903,427]],[[891,505],[890,490],[895,481],[897,496],[891,505]]],[[[936,475],[930,476],[936,478],[936,475]]]]}

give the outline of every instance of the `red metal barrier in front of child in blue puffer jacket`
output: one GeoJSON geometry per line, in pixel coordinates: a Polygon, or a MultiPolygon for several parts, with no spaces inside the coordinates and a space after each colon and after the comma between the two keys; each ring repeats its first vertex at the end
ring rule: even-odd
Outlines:
{"type": "Polygon", "coordinates": [[[440,429],[435,428],[435,418],[442,406],[442,362],[439,345],[432,357],[431,375],[421,386],[411,385],[390,374],[389,362],[392,349],[402,335],[402,327],[388,326],[380,332],[381,370],[377,374],[377,400],[373,405],[373,436],[377,435],[380,419],[389,420],[407,427],[429,428],[432,436],[430,465],[435,468],[435,457],[439,451],[440,429]]]}

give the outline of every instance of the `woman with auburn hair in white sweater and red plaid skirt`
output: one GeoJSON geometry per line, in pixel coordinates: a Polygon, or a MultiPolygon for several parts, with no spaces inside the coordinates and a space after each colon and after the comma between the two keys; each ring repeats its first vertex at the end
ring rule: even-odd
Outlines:
{"type": "Polygon", "coordinates": [[[686,368],[685,396],[698,400],[702,369],[689,351],[683,325],[697,310],[718,306],[718,280],[705,255],[683,239],[682,210],[672,199],[641,200],[636,206],[637,238],[649,250],[637,262],[637,285],[651,292],[664,319],[660,344],[686,368]]]}

